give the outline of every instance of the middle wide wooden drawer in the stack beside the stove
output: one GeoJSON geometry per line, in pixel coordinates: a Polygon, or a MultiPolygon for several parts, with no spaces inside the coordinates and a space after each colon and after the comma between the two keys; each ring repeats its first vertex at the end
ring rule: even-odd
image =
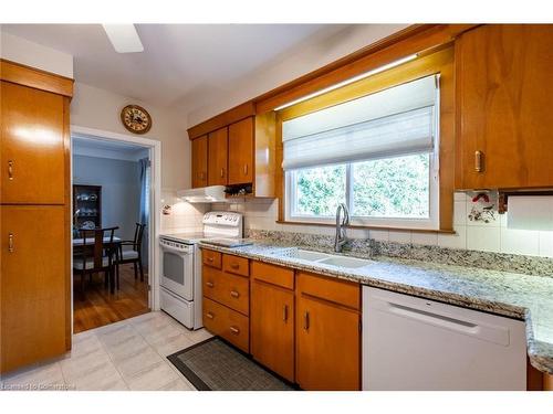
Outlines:
{"type": "Polygon", "coordinates": [[[249,315],[249,279],[208,266],[204,266],[201,279],[204,296],[238,310],[243,315],[249,315]]]}

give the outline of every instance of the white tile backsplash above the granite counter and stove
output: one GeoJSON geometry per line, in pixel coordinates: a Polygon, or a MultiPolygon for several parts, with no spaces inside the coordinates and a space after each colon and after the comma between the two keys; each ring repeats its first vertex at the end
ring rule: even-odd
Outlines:
{"type": "MultiPolygon", "coordinates": [[[[184,203],[186,204],[186,203],[184,203]]],[[[278,201],[270,199],[240,200],[236,203],[211,204],[209,208],[174,208],[173,227],[195,225],[201,227],[201,215],[208,210],[231,210],[244,214],[246,229],[276,230],[310,234],[333,235],[334,229],[327,226],[290,225],[276,223],[278,201]],[[182,211],[181,211],[182,209],[182,211]],[[176,211],[180,213],[176,213],[176,211]],[[179,219],[177,219],[179,217],[179,219]],[[194,220],[195,224],[190,224],[194,220]]],[[[204,204],[195,204],[204,205],[204,204]]],[[[349,237],[372,237],[378,241],[397,243],[415,243],[438,245],[450,248],[468,248],[484,252],[512,253],[533,256],[553,257],[553,232],[525,231],[507,229],[507,214],[495,214],[497,220],[490,223],[473,222],[468,219],[472,208],[471,197],[465,193],[455,194],[453,229],[456,234],[417,233],[409,231],[361,230],[347,232],[349,237]]]]}

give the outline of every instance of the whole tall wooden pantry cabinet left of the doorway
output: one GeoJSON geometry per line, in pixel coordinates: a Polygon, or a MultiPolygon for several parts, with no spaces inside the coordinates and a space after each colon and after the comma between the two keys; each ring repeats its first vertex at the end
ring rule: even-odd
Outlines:
{"type": "Polygon", "coordinates": [[[71,349],[73,81],[0,60],[0,372],[71,349]]]}

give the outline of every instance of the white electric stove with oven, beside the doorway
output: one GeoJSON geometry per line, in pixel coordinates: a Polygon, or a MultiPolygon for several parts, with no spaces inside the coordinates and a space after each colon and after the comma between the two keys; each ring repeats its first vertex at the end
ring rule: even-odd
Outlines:
{"type": "Polygon", "coordinates": [[[204,214],[204,232],[161,234],[160,305],[180,323],[199,329],[201,322],[201,251],[199,242],[239,241],[242,214],[212,211],[204,214]]]}

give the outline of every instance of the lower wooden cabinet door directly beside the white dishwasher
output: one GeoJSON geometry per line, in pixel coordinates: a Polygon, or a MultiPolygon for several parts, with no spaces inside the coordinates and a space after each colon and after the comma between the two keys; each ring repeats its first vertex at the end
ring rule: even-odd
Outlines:
{"type": "Polygon", "coordinates": [[[359,390],[359,314],[301,295],[296,382],[304,390],[359,390]]]}

